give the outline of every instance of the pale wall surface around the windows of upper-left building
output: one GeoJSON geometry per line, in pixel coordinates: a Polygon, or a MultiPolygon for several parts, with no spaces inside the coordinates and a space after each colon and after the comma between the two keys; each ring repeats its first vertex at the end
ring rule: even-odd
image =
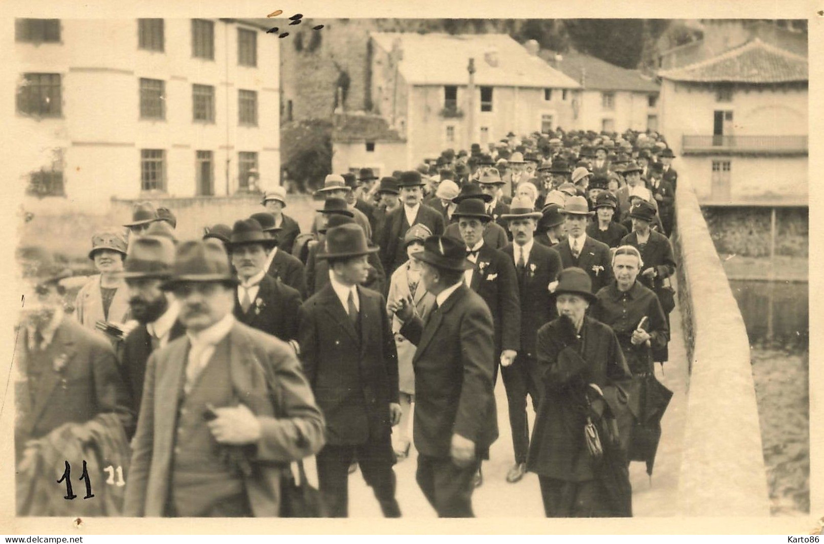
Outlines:
{"type": "MultiPolygon", "coordinates": [[[[65,150],[68,199],[94,209],[112,196],[140,195],[140,149],[166,150],[167,192],[195,193],[195,151],[213,152],[214,189],[237,186],[237,152],[258,152],[260,184],[279,184],[279,40],[259,30],[257,67],[237,65],[237,27],[215,21],[215,59],[191,57],[191,21],[166,19],[165,51],[138,49],[138,21],[62,20],[60,44],[32,45],[9,36],[4,50],[11,72],[62,74],[63,116],[36,120],[3,101],[19,142],[14,176],[49,162],[50,150],[65,150]],[[139,78],[166,82],[166,120],[139,119],[139,78]],[[192,122],[192,84],[215,87],[215,123],[192,122]],[[258,126],[239,127],[238,89],[257,91],[258,126]],[[227,130],[228,129],[228,130],[227,130]]],[[[254,30],[254,29],[253,29],[254,30]]],[[[52,200],[52,199],[49,199],[52,200]]],[[[65,199],[54,199],[55,203],[65,199]]]]}

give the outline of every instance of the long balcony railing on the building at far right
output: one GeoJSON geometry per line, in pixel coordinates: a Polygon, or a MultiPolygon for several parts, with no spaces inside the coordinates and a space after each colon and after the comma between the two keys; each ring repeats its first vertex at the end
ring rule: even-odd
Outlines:
{"type": "Polygon", "coordinates": [[[684,135],[684,154],[732,153],[755,155],[806,155],[808,137],[801,135],[684,135]]]}

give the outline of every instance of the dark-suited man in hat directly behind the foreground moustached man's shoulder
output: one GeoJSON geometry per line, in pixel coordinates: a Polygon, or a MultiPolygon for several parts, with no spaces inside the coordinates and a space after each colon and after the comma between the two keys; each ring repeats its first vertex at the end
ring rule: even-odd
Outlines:
{"type": "Polygon", "coordinates": [[[264,234],[255,219],[235,223],[227,243],[240,281],[236,288],[234,314],[238,321],[295,347],[301,293],[266,274],[264,268],[266,254],[277,243],[264,234]]]}

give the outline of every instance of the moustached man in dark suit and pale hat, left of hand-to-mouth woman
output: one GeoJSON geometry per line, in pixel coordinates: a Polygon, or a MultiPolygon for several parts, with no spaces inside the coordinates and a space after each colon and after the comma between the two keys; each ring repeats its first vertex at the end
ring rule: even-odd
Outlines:
{"type": "Polygon", "coordinates": [[[520,481],[527,471],[527,395],[531,397],[532,408],[537,414],[543,391],[543,380],[535,357],[536,333],[544,323],[556,316],[550,299],[550,286],[561,270],[561,258],[558,251],[535,242],[535,229],[540,218],[541,212],[532,209],[529,199],[517,197],[513,199],[509,213],[503,214],[503,219],[509,223],[509,231],[513,233],[513,243],[504,247],[503,253],[515,264],[521,300],[521,349],[512,364],[501,367],[515,453],[515,465],[507,474],[509,483],[520,481]]]}

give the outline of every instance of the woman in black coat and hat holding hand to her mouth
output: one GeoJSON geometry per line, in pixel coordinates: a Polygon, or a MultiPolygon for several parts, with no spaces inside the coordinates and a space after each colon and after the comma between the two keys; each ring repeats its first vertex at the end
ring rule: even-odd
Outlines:
{"type": "Polygon", "coordinates": [[[554,293],[560,317],[537,334],[544,395],[527,470],[538,475],[548,518],[632,515],[627,462],[614,418],[620,409],[615,384],[628,380],[630,370],[611,329],[585,316],[595,302],[591,289],[586,272],[563,270],[554,293]],[[588,447],[589,422],[597,429],[601,456],[588,447]]]}

